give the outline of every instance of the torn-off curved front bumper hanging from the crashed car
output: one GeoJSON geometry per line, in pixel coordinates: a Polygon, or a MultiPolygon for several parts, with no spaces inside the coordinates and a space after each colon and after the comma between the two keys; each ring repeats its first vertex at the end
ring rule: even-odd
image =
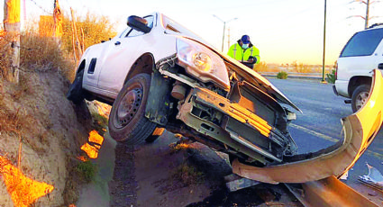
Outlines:
{"type": "Polygon", "coordinates": [[[291,162],[256,167],[233,161],[233,173],[263,183],[305,183],[347,172],[369,147],[382,123],[383,78],[374,70],[369,101],[358,112],[342,119],[344,138],[335,146],[323,149],[311,156],[297,155],[291,162]]]}

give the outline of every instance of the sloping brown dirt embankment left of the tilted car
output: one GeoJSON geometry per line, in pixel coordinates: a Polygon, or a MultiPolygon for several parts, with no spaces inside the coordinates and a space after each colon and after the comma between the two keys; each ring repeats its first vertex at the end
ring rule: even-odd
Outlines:
{"type": "MultiPolygon", "coordinates": [[[[82,181],[77,157],[84,155],[80,147],[93,122],[86,103],[68,102],[68,85],[51,70],[21,73],[19,85],[0,79],[0,157],[26,177],[54,187],[33,206],[68,206],[78,200],[82,181]]],[[[5,177],[12,176],[6,173],[0,168],[0,206],[21,206],[14,197],[30,196],[33,189],[9,186],[12,182],[7,184],[5,177]]]]}

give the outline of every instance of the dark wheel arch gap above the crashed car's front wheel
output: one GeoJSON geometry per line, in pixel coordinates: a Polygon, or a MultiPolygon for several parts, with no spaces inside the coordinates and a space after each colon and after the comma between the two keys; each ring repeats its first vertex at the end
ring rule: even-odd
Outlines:
{"type": "Polygon", "coordinates": [[[137,58],[134,63],[132,64],[131,69],[129,70],[128,74],[125,77],[125,80],[123,81],[123,84],[128,82],[129,79],[131,79],[133,76],[136,76],[141,73],[146,73],[151,75],[153,72],[154,67],[154,57],[151,53],[144,53],[140,56],[140,58],[137,58]]]}

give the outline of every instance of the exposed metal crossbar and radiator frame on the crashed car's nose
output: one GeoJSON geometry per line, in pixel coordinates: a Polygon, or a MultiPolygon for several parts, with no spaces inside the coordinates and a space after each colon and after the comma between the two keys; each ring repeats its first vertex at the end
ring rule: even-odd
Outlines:
{"type": "Polygon", "coordinates": [[[214,92],[196,86],[191,89],[185,102],[178,106],[177,118],[210,138],[221,141],[230,150],[241,152],[262,163],[270,165],[282,162],[284,151],[270,153],[272,146],[283,146],[290,137],[257,114],[250,112],[238,103],[214,92]],[[215,112],[214,116],[222,121],[207,121],[203,109],[215,112]],[[220,114],[216,114],[220,113],[220,114]]]}

